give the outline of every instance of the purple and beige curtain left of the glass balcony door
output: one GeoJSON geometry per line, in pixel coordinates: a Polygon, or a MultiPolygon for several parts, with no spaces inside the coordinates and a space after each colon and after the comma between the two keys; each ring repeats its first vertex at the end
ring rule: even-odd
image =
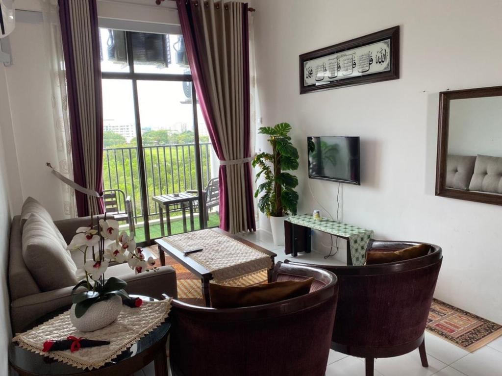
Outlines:
{"type": "MultiPolygon", "coordinates": [[[[103,190],[103,109],[96,0],[59,0],[75,183],[103,190]]],[[[102,199],[75,192],[79,216],[102,214],[102,199]]]]}

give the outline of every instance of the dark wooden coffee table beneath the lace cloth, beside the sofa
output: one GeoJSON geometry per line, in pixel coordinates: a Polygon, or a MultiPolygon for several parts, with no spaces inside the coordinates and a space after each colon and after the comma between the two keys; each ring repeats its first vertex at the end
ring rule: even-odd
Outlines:
{"type": "MultiPolygon", "coordinates": [[[[232,239],[235,239],[237,241],[240,241],[241,243],[248,245],[259,252],[264,253],[265,255],[269,256],[272,260],[272,266],[270,269],[267,271],[267,276],[268,276],[268,281],[271,282],[272,280],[272,272],[274,271],[274,260],[275,257],[277,256],[275,253],[270,252],[270,250],[265,249],[259,245],[256,245],[255,243],[252,243],[250,241],[247,241],[245,239],[242,239],[239,236],[233,235],[229,232],[223,231],[220,228],[214,228],[213,230],[221,233],[222,235],[226,235],[231,237],[232,239]]],[[[166,265],[166,257],[165,254],[168,254],[171,256],[173,259],[178,261],[181,265],[183,265],[185,268],[187,268],[190,272],[195,274],[197,277],[200,278],[201,283],[202,283],[202,297],[204,298],[204,303],[206,307],[209,307],[211,302],[209,299],[209,281],[213,279],[212,273],[207,270],[205,267],[202,265],[198,264],[194,260],[192,260],[190,257],[187,257],[185,253],[183,253],[181,250],[176,248],[174,245],[170,244],[169,242],[161,239],[155,240],[159,247],[159,257],[162,265],[166,265]]]]}

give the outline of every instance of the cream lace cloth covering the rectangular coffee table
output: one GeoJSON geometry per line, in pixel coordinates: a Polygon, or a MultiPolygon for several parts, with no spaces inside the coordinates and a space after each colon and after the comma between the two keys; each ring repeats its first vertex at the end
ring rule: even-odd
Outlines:
{"type": "Polygon", "coordinates": [[[201,252],[186,257],[210,271],[215,281],[226,281],[272,266],[270,256],[212,229],[172,235],[162,240],[181,252],[202,248],[201,252]]]}

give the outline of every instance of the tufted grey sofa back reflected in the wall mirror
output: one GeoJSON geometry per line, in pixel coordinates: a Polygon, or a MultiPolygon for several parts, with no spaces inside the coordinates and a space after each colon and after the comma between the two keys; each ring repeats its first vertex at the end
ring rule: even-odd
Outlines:
{"type": "Polygon", "coordinates": [[[446,188],[502,194],[502,158],[449,154],[446,188]]]}

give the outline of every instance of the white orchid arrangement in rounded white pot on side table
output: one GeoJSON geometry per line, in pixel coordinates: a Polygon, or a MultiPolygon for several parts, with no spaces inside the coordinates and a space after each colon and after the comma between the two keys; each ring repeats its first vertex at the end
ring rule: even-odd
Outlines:
{"type": "Polygon", "coordinates": [[[104,278],[110,262],[128,262],[136,274],[147,272],[155,260],[145,261],[134,237],[122,231],[113,219],[101,219],[99,224],[79,227],[67,249],[80,250],[84,258],[85,280],[73,288],[70,309],[71,323],[80,331],[94,331],[111,324],[120,313],[122,298],[129,299],[124,290],[127,283],[119,278],[104,278]],[[100,231],[98,231],[100,229],[100,231]],[[85,291],[76,292],[83,287],[85,291]]]}

